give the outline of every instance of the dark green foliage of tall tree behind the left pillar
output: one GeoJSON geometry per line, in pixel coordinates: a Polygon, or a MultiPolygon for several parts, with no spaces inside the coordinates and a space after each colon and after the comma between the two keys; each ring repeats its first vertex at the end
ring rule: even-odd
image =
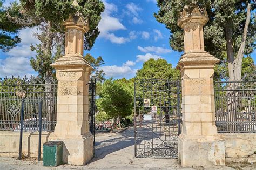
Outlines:
{"type": "Polygon", "coordinates": [[[53,69],[50,64],[64,51],[63,22],[77,11],[88,19],[90,30],[85,33],[84,49],[90,50],[95,43],[99,30],[100,14],[104,11],[104,4],[99,0],[80,0],[79,6],[72,5],[73,0],[21,0],[13,3],[6,12],[9,20],[18,24],[20,28],[37,26],[41,33],[35,36],[40,44],[31,46],[37,52],[31,58],[31,66],[39,71],[41,76],[51,76],[53,69]],[[57,51],[57,52],[56,52],[57,51]]]}

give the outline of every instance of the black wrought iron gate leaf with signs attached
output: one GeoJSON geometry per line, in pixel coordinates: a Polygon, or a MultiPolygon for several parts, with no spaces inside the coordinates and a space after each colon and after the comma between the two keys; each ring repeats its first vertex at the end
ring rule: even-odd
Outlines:
{"type": "Polygon", "coordinates": [[[178,158],[180,80],[135,79],[135,157],[178,158]]]}

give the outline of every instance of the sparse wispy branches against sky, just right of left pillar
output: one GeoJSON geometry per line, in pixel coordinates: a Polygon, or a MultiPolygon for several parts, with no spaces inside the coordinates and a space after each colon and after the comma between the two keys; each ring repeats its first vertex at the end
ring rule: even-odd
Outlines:
{"type": "Polygon", "coordinates": [[[87,62],[91,64],[93,69],[95,69],[95,71],[92,72],[91,78],[96,79],[97,82],[102,83],[105,80],[105,73],[103,72],[102,69],[98,70],[101,65],[105,64],[102,57],[99,56],[97,58],[94,58],[92,55],[87,53],[84,56],[84,58],[87,60],[87,62]]]}

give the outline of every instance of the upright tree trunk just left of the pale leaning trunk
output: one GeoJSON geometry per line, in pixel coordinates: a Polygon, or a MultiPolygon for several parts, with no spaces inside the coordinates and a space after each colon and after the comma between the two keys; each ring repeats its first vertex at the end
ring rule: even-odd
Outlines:
{"type": "Polygon", "coordinates": [[[234,80],[234,49],[232,39],[233,29],[230,24],[225,27],[225,39],[227,48],[227,59],[228,59],[228,76],[230,80],[234,80]]]}

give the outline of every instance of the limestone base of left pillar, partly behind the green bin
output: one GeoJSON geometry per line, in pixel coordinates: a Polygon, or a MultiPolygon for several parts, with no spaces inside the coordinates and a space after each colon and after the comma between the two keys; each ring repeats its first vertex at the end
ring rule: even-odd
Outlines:
{"type": "Polygon", "coordinates": [[[51,141],[63,141],[62,161],[65,164],[85,165],[93,158],[93,135],[55,135],[49,137],[51,141]]]}

